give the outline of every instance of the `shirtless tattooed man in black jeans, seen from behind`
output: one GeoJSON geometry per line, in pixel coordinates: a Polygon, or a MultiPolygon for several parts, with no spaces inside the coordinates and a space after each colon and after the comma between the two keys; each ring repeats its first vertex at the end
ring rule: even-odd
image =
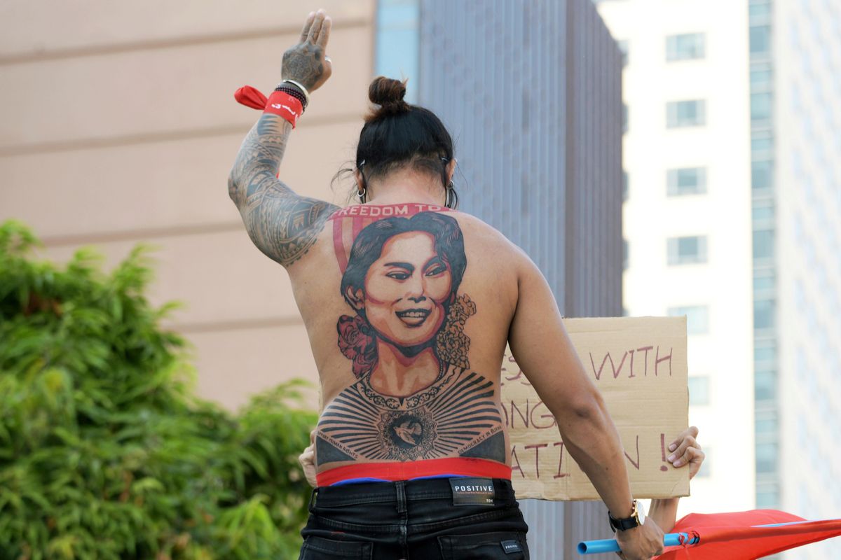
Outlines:
{"type": "Polygon", "coordinates": [[[659,553],[663,532],[637,524],[616,428],[546,280],[454,210],[452,139],[403,101],[403,83],[369,89],[378,108],[357,146],[360,204],[299,196],[276,178],[309,92],[331,76],[330,29],[309,14],[229,181],[251,239],[288,270],[319,370],[319,487],[300,557],[528,557],[500,416],[506,343],[621,527],[624,557],[659,553]]]}

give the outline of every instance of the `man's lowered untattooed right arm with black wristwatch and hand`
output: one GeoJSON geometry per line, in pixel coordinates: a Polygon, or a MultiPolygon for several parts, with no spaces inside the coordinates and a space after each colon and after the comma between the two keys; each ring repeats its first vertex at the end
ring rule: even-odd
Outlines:
{"type": "MultiPolygon", "coordinates": [[[[523,255],[519,295],[508,342],[517,364],[558,421],[564,446],[617,519],[632,515],[632,495],[619,433],[599,391],[584,371],[540,270],[523,255]]],[[[607,520],[605,520],[605,528],[607,520]]],[[[663,531],[645,525],[618,531],[626,557],[649,558],[663,549],[663,531]]]]}

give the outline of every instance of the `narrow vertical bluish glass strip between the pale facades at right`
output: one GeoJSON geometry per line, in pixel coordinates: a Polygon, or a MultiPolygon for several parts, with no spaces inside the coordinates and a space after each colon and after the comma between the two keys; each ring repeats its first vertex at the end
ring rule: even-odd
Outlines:
{"type": "Polygon", "coordinates": [[[780,506],[771,0],[749,0],[756,507],[780,506]]]}

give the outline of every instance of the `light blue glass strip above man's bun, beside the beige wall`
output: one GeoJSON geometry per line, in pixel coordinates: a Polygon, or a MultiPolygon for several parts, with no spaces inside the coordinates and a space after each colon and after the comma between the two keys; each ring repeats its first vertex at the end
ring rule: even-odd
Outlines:
{"type": "Polygon", "coordinates": [[[421,7],[418,0],[379,0],[374,75],[408,78],[405,100],[417,102],[421,77],[421,7]]]}

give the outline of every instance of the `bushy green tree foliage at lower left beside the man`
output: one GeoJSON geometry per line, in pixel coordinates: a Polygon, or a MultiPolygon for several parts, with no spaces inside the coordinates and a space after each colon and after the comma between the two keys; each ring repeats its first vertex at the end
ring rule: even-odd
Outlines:
{"type": "Polygon", "coordinates": [[[0,559],[295,557],[315,423],[299,384],[237,416],[199,400],[159,327],[173,306],[143,296],[145,249],[106,275],[37,245],[0,225],[0,559]]]}

